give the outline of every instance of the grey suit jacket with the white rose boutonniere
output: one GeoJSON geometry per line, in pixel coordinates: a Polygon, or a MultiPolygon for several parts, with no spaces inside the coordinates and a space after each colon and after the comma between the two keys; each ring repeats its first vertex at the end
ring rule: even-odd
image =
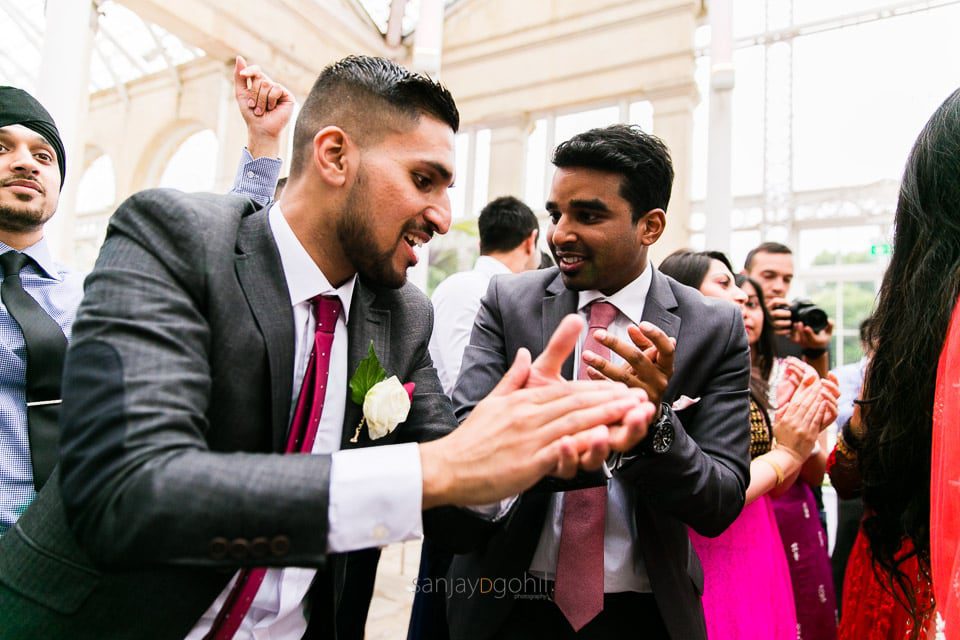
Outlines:
{"type": "MultiPolygon", "coordinates": [[[[431,326],[412,285],[358,282],[348,371],[372,341],[387,372],[417,386],[405,423],[356,445],[361,408],[348,390],[344,448],[455,426],[427,352],[431,326]]],[[[326,553],[330,456],[278,454],[293,352],[266,210],[171,190],[121,205],[67,356],[60,486],[48,483],[0,541],[0,636],[182,637],[243,566],[325,569],[332,589],[315,581],[324,595],[311,628],[329,626],[347,579],[326,553]]],[[[450,543],[474,524],[452,510],[424,515],[450,543]]]]}

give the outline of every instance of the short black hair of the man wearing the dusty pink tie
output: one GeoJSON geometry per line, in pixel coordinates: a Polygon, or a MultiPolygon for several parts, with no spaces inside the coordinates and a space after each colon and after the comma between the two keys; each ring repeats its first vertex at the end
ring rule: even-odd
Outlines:
{"type": "Polygon", "coordinates": [[[670,150],[636,125],[615,124],[575,135],[557,146],[553,164],[620,174],[620,196],[630,203],[634,224],[651,209],[666,211],[670,203],[670,150]]]}

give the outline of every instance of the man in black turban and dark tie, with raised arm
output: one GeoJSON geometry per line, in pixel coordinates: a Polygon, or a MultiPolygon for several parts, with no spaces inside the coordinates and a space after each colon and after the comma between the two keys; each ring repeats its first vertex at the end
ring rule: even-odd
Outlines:
{"type": "MultiPolygon", "coordinates": [[[[238,87],[246,86],[246,92],[238,89],[237,100],[250,153],[241,159],[233,192],[265,203],[280,161],[264,156],[278,152],[289,109],[284,114],[274,108],[277,90],[270,94],[272,103],[249,105],[242,94],[268,94],[274,85],[258,69],[247,77],[246,85],[245,78],[237,80],[238,87]]],[[[276,87],[287,106],[292,104],[286,90],[276,87]]],[[[83,294],[82,274],[54,261],[44,238],[65,176],[64,146],[50,113],[26,91],[0,86],[0,537],[34,500],[59,458],[60,370],[83,294]]]]}

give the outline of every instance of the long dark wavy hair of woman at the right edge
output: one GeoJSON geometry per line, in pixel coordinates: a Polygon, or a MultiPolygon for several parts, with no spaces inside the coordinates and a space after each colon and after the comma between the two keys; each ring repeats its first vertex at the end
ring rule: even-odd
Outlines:
{"type": "Polygon", "coordinates": [[[960,290],[960,90],[940,105],[907,159],[893,254],[869,329],[875,345],[861,408],[858,456],[876,566],[916,617],[904,536],[929,576],[930,447],[937,361],[960,290]]]}

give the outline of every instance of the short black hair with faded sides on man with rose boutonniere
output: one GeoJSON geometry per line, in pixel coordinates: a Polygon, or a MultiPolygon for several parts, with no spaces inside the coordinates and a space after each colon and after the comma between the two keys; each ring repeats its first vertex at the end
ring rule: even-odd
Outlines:
{"type": "Polygon", "coordinates": [[[454,132],[460,128],[453,96],[428,76],[372,56],[334,62],[320,73],[300,109],[290,173],[300,173],[305,149],[323,127],[336,125],[358,144],[372,144],[390,131],[412,127],[424,114],[445,122],[454,132]]]}

